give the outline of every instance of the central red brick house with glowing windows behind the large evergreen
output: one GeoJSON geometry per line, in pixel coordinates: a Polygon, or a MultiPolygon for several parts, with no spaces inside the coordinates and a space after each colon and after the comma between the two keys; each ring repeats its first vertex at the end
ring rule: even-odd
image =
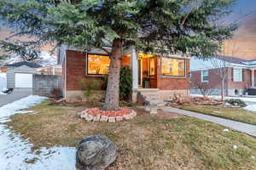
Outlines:
{"type": "MultiPolygon", "coordinates": [[[[109,48],[110,50],[110,48],[109,48]]],[[[170,99],[173,94],[189,93],[189,57],[170,55],[168,58],[155,54],[143,54],[135,49],[124,50],[122,65],[132,71],[132,100],[137,94],[158,95],[170,99]]],[[[67,101],[83,94],[79,79],[101,80],[108,75],[109,56],[102,50],[79,52],[62,45],[58,64],[62,65],[63,94],[67,101]]]]}

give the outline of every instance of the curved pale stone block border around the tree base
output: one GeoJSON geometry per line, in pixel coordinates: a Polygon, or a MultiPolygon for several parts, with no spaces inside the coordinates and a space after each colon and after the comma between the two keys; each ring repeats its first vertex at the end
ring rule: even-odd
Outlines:
{"type": "Polygon", "coordinates": [[[137,116],[137,112],[131,109],[129,109],[131,111],[130,114],[123,115],[123,116],[101,116],[101,115],[92,116],[89,113],[87,113],[89,110],[90,108],[79,112],[79,116],[87,122],[121,122],[124,120],[131,120],[132,118],[137,116]]]}

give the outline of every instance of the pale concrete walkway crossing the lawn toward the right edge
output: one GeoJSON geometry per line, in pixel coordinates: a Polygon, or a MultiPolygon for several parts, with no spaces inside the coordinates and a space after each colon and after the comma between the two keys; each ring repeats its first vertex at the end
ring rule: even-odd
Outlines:
{"type": "Polygon", "coordinates": [[[192,116],[192,117],[199,118],[209,122],[215,122],[225,127],[233,128],[241,133],[247,133],[253,137],[256,137],[256,126],[251,124],[247,124],[244,122],[231,121],[229,119],[224,119],[217,116],[208,116],[208,115],[204,115],[194,111],[184,111],[184,110],[173,108],[173,107],[163,107],[161,109],[164,111],[170,111],[170,112],[185,115],[185,116],[192,116]]]}

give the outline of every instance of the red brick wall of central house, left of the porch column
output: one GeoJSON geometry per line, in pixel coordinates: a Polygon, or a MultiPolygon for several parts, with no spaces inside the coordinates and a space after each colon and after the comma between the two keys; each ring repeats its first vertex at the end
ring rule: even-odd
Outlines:
{"type": "MultiPolygon", "coordinates": [[[[86,80],[98,79],[102,80],[102,76],[86,75],[86,53],[67,50],[67,90],[81,90],[79,78],[86,80]]],[[[130,56],[126,55],[121,61],[122,65],[130,65],[130,56]]]]}

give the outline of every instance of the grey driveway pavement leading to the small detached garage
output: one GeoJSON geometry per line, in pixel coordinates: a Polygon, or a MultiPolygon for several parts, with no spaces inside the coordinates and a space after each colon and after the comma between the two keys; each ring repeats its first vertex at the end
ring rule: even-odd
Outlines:
{"type": "Polygon", "coordinates": [[[23,89],[14,89],[11,94],[0,94],[0,107],[9,103],[14,102],[15,100],[25,98],[32,94],[32,89],[23,88],[23,89]]]}

